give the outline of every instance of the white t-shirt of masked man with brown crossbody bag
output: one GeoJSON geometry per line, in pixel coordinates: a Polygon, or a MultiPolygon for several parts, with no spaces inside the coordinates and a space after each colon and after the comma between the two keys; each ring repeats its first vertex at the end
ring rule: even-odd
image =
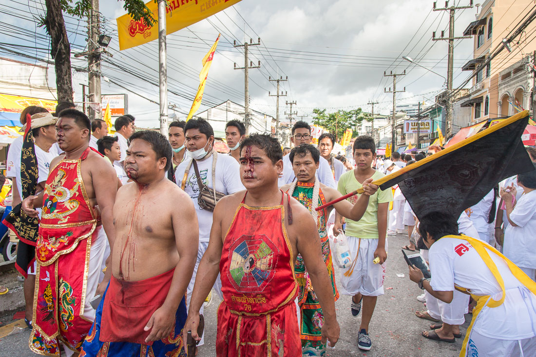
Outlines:
{"type": "MultiPolygon", "coordinates": [[[[197,167],[203,180],[203,184],[211,189],[214,187],[212,182],[212,162],[214,160],[214,154],[203,161],[197,162],[197,167]]],[[[190,157],[185,158],[175,170],[175,179],[177,180],[177,185],[179,187],[181,187],[184,178],[184,171],[189,166],[191,160],[190,157]]],[[[240,180],[240,165],[234,157],[218,155],[214,172],[216,191],[228,195],[245,190],[245,187],[240,180]]],[[[184,185],[184,192],[190,196],[193,201],[193,206],[196,208],[197,220],[199,221],[199,242],[209,242],[210,230],[212,228],[212,212],[210,212],[210,210],[199,208],[199,204],[197,203],[199,186],[197,184],[197,177],[196,172],[193,169],[193,164],[190,166],[190,171],[184,185]]]]}

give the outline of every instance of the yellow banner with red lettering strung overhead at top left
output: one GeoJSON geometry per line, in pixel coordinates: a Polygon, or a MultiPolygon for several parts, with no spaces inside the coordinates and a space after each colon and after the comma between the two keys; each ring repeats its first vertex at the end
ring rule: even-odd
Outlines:
{"type": "MultiPolygon", "coordinates": [[[[166,6],[166,34],[195,24],[238,2],[240,0],[169,0],[166,6]]],[[[152,11],[153,18],[158,19],[157,2],[151,0],[145,5],[152,11]]],[[[117,30],[120,50],[158,39],[158,24],[147,26],[143,19],[135,21],[128,13],[117,18],[117,30]]]]}

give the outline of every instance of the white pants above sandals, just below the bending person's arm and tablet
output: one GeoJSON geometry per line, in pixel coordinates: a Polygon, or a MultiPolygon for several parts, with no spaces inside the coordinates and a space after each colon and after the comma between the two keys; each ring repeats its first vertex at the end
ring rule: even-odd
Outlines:
{"type": "Polygon", "coordinates": [[[438,300],[428,292],[425,293],[425,297],[428,314],[431,317],[449,325],[461,325],[465,323],[464,314],[468,312],[469,295],[454,290],[450,304],[438,300]]]}

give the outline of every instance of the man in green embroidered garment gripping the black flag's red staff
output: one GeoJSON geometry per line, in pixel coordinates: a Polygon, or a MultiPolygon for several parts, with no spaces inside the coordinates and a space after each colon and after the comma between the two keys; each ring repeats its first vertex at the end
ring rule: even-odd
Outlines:
{"type": "MultiPolygon", "coordinates": [[[[292,184],[282,186],[281,190],[283,192],[288,192],[305,206],[317,223],[322,248],[322,258],[327,267],[327,272],[330,275],[333,296],[335,300],[337,300],[339,292],[335,286],[333,262],[331,260],[330,244],[326,230],[327,217],[329,217],[332,207],[327,207],[319,211],[316,211],[315,209],[326,203],[326,201],[332,201],[339,198],[341,194],[334,188],[321,184],[316,177],[316,169],[318,168],[320,154],[313,145],[301,144],[299,147],[292,149],[289,156],[293,164],[296,181],[292,184]]],[[[334,158],[333,160],[337,161],[334,158]]],[[[376,185],[370,185],[371,181],[372,179],[369,178],[363,183],[365,193],[359,197],[354,205],[343,200],[335,203],[333,208],[344,217],[359,221],[367,209],[369,196],[373,195],[378,190],[376,185]]],[[[294,271],[299,286],[298,323],[300,325],[302,340],[302,354],[304,356],[324,356],[326,345],[321,342],[324,316],[316,297],[315,290],[311,285],[306,266],[303,263],[303,258],[300,255],[297,256],[294,271]]]]}

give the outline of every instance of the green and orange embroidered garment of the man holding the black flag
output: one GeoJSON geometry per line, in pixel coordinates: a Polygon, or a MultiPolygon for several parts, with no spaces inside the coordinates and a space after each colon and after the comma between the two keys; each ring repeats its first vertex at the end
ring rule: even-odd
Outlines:
{"type": "MultiPolygon", "coordinates": [[[[316,180],[318,182],[318,180],[316,180]]],[[[326,209],[315,211],[314,208],[326,203],[322,190],[318,187],[318,194],[315,195],[315,185],[313,183],[297,182],[292,192],[292,196],[300,201],[300,203],[307,207],[312,212],[317,214],[318,234],[320,235],[320,243],[322,246],[322,258],[327,267],[327,272],[330,275],[331,286],[333,287],[333,296],[335,301],[339,298],[339,292],[335,285],[335,275],[333,270],[333,261],[331,260],[330,242],[327,237],[326,222],[327,211],[326,209]],[[317,204],[313,205],[313,196],[317,196],[317,204]]],[[[291,191],[291,190],[289,190],[291,191]]],[[[296,266],[294,267],[296,272],[296,280],[300,287],[298,295],[298,303],[300,305],[301,318],[300,318],[300,337],[302,340],[302,353],[304,356],[323,356],[325,354],[326,345],[321,344],[322,325],[324,324],[324,316],[322,315],[322,309],[318,302],[315,292],[312,289],[311,280],[303,258],[298,254],[296,259],[296,266]]]]}

